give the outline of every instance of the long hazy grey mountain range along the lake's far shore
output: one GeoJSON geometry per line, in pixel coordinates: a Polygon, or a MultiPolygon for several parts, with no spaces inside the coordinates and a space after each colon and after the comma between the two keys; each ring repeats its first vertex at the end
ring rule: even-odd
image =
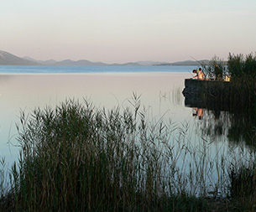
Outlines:
{"type": "Polygon", "coordinates": [[[166,62],[157,62],[157,61],[138,61],[136,63],[125,63],[125,64],[105,64],[102,62],[91,62],[86,59],[81,60],[71,60],[65,59],[62,61],[56,61],[55,59],[49,60],[37,60],[30,57],[20,58],[13,54],[10,54],[5,51],[0,50],[0,65],[77,65],[77,66],[89,66],[89,65],[126,65],[126,66],[136,66],[136,65],[201,65],[201,64],[208,64],[209,60],[185,60],[175,63],[166,63],[166,62]]]}

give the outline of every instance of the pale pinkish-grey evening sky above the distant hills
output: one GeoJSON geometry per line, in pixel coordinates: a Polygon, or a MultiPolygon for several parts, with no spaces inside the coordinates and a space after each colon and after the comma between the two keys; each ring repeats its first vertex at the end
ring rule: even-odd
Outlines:
{"type": "Polygon", "coordinates": [[[2,1],[0,50],[105,63],[227,59],[256,51],[256,1],[2,1]]]}

